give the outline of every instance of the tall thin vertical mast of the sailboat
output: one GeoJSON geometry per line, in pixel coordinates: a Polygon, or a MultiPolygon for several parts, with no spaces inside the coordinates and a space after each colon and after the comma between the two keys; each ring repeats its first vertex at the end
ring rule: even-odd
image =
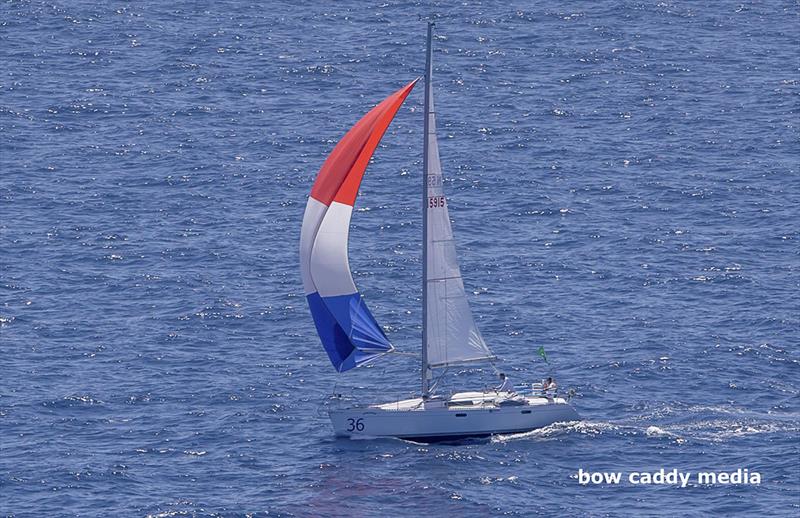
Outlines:
{"type": "Polygon", "coordinates": [[[431,121],[431,39],[433,22],[428,22],[428,44],[425,53],[425,124],[422,141],[422,398],[430,395],[428,384],[428,137],[431,121]]]}

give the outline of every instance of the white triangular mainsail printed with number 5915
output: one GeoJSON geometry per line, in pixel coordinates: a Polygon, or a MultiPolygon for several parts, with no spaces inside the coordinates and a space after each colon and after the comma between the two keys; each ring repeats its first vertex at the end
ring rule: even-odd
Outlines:
{"type": "MultiPolygon", "coordinates": [[[[430,51],[429,51],[430,52],[430,51]]],[[[469,309],[464,282],[458,267],[450,214],[442,189],[442,165],[439,161],[439,146],[436,140],[436,115],[433,109],[433,67],[428,59],[426,75],[427,156],[425,171],[426,202],[426,267],[425,325],[423,344],[424,363],[428,368],[488,360],[494,358],[484,342],[472,311],[469,309]]],[[[423,374],[425,375],[425,374],[423,374]]]]}

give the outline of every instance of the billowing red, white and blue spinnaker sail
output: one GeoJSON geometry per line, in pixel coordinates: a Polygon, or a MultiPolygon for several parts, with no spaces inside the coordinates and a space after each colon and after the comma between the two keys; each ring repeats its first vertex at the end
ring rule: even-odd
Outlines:
{"type": "Polygon", "coordinates": [[[300,272],[322,345],[339,372],[393,349],[350,274],[347,240],[358,187],[412,81],[359,120],[317,175],[300,232],[300,272]]]}

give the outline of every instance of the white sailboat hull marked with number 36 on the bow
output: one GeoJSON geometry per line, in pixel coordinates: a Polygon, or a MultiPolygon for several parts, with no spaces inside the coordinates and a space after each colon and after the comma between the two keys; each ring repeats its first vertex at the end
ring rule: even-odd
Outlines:
{"type": "MultiPolygon", "coordinates": [[[[485,394],[483,396],[486,397],[485,394]]],[[[329,415],[338,437],[396,437],[418,442],[519,433],[556,422],[580,419],[575,409],[562,398],[516,399],[517,404],[513,406],[494,404],[491,400],[459,405],[452,401],[447,404],[443,401],[424,404],[421,399],[410,399],[384,405],[331,410],[329,415]]]]}

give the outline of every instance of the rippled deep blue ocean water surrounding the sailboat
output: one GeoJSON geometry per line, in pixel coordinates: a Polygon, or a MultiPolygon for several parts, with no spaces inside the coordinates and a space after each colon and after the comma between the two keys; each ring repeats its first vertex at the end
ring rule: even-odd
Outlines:
{"type": "MultiPolygon", "coordinates": [[[[788,1],[3,2],[0,514],[796,515],[799,20],[788,1]],[[409,356],[333,370],[297,248],[327,153],[421,75],[420,15],[478,324],[583,422],[350,442],[320,407],[418,389],[409,356]],[[584,487],[579,468],[763,481],[584,487]]],[[[350,243],[410,353],[421,107],[418,88],[350,243]]]]}

